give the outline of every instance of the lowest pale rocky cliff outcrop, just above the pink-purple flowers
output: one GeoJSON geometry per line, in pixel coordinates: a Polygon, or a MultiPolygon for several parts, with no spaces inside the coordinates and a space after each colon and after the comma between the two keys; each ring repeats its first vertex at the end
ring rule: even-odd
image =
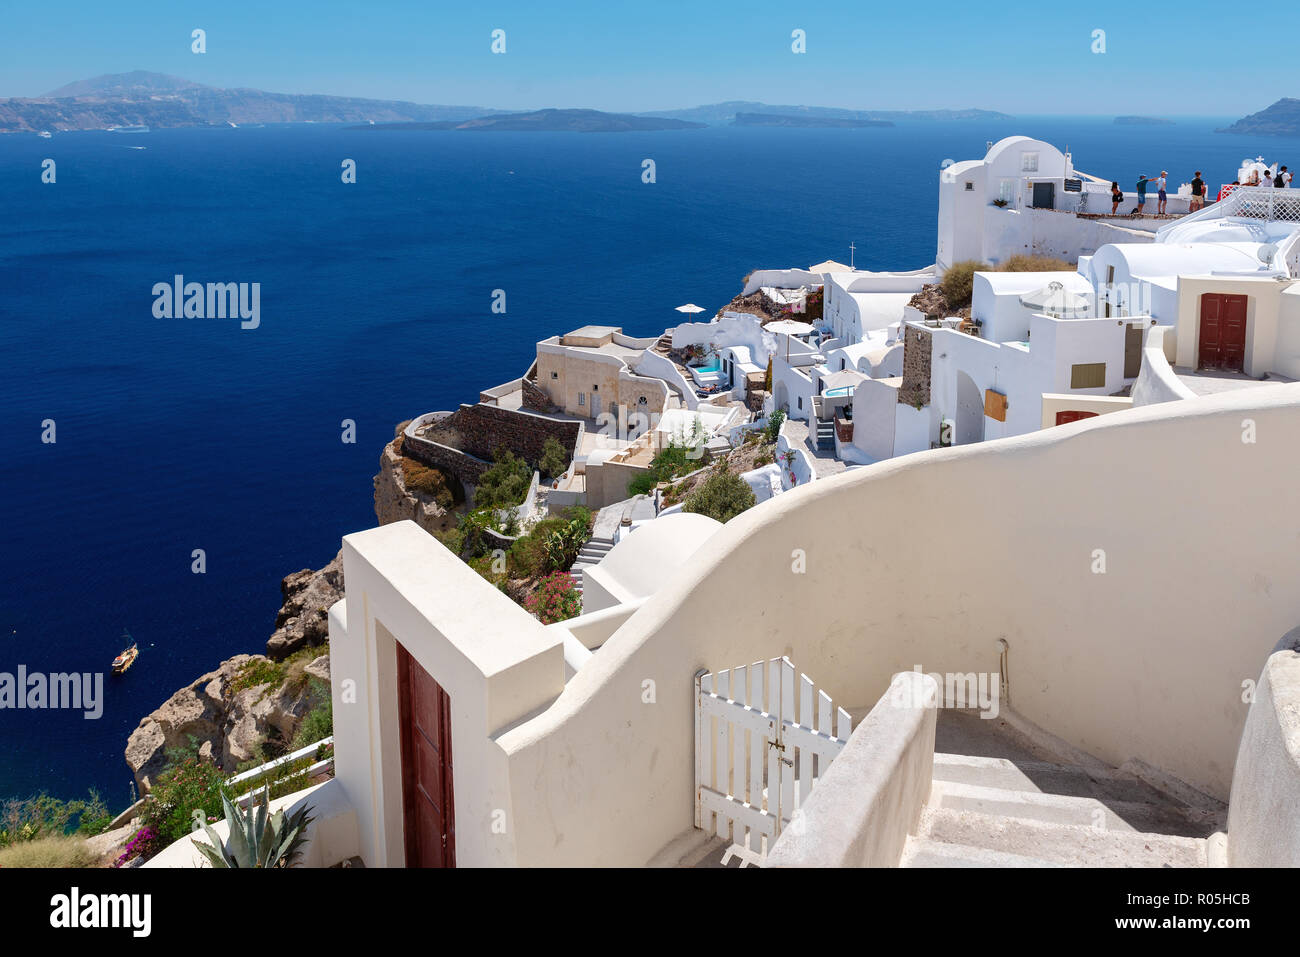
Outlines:
{"type": "Polygon", "coordinates": [[[147,715],[126,742],[126,763],[140,793],[166,765],[166,752],[186,748],[195,739],[199,757],[231,774],[257,754],[266,740],[292,741],[302,719],[321,703],[307,677],[329,681],[329,655],[303,670],[302,680],[254,685],[231,693],[231,683],[246,666],[268,662],[263,655],[239,654],[216,671],[186,685],[147,715]]]}

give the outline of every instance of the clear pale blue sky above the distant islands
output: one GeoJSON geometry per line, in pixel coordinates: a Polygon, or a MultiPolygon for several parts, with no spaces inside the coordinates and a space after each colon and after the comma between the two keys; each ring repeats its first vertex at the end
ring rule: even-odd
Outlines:
{"type": "Polygon", "coordinates": [[[1119,3],[73,0],[0,13],[0,96],[143,69],[212,86],[536,109],[745,99],[1244,116],[1300,95],[1292,8],[1119,3]],[[190,52],[203,27],[208,52],[190,52]],[[507,53],[489,51],[491,30],[507,53]],[[790,31],[807,52],[790,52],[790,31]],[[1106,31],[1106,52],[1091,34],[1106,31]]]}

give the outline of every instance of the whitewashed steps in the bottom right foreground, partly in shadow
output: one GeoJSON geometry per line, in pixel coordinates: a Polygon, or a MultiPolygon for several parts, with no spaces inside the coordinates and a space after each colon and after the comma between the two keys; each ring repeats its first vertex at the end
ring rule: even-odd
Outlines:
{"type": "Polygon", "coordinates": [[[900,866],[1205,867],[1221,827],[1121,768],[936,753],[900,866]]]}

